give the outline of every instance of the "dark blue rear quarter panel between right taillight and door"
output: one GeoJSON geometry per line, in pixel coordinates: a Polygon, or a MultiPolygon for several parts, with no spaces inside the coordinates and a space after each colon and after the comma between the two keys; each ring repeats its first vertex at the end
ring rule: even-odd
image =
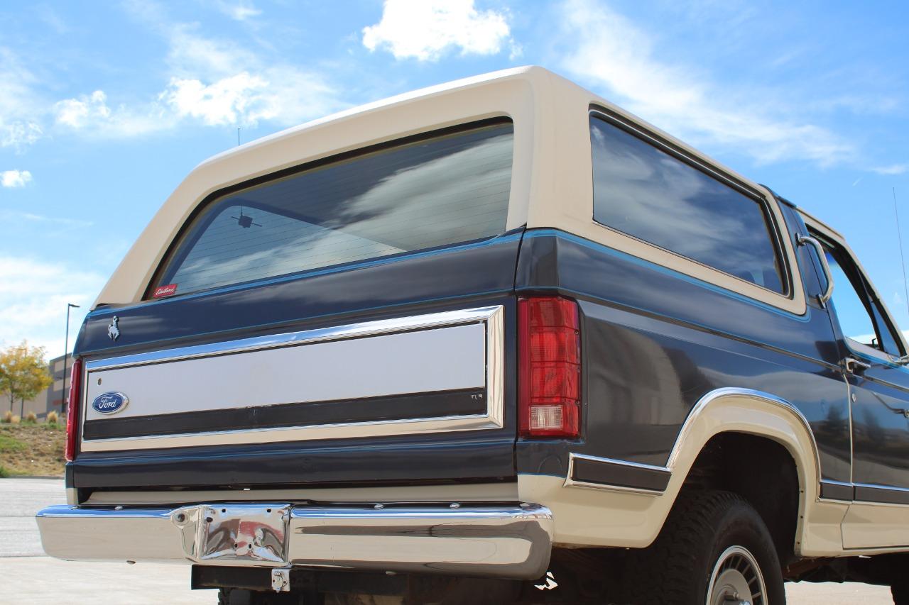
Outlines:
{"type": "Polygon", "coordinates": [[[814,430],[824,479],[849,481],[845,382],[814,299],[795,315],[550,230],[525,234],[515,285],[576,298],[584,351],[584,441],[519,441],[519,472],[564,476],[568,451],[664,465],[694,403],[739,387],[792,402],[814,430]]]}

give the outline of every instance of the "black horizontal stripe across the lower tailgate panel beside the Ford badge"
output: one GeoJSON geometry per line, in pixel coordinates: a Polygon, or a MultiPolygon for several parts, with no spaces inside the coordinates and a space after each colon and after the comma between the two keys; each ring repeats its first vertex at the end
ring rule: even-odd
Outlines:
{"type": "MultiPolygon", "coordinates": [[[[139,402],[133,402],[134,405],[139,402]]],[[[83,438],[117,439],[192,432],[243,431],[348,422],[422,420],[486,412],[484,389],[418,392],[330,402],[299,402],[204,412],[86,421],[83,438]]]]}

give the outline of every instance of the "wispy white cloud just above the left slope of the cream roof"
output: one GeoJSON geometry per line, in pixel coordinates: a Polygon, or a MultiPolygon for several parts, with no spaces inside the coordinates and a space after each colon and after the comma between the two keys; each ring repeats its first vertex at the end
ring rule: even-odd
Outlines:
{"type": "MultiPolygon", "coordinates": [[[[249,11],[249,3],[223,4],[249,11]],[[238,8],[239,7],[239,8],[238,8]]],[[[55,124],[69,132],[125,137],[165,131],[186,122],[207,126],[293,125],[341,108],[325,77],[275,61],[232,41],[198,35],[197,25],[169,24],[159,10],[136,14],[165,35],[171,76],[163,90],[135,104],[110,104],[105,91],[54,104],[55,124]]]]}

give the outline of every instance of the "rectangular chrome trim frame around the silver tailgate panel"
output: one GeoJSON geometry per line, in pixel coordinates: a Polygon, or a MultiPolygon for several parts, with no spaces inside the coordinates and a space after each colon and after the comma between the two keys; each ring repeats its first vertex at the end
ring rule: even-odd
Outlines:
{"type": "MultiPolygon", "coordinates": [[[[420,434],[448,431],[478,431],[500,429],[504,426],[504,307],[502,305],[479,307],[450,312],[428,313],[411,317],[361,322],[331,328],[288,332],[230,342],[168,349],[136,355],[125,355],[85,364],[83,385],[91,380],[91,372],[111,370],[135,365],[174,362],[236,352],[251,352],[287,346],[349,340],[395,332],[431,330],[446,326],[482,322],[486,338],[486,409],[482,414],[444,416],[435,418],[405,419],[375,422],[345,422],[319,424],[305,427],[276,427],[239,429],[230,431],[204,431],[182,435],[148,435],[115,439],[81,441],[82,451],[117,451],[196,445],[267,443],[275,441],[306,441],[314,439],[346,439],[355,437],[381,437],[390,435],[420,434]]],[[[85,387],[82,408],[85,410],[85,387]]],[[[85,422],[85,413],[80,414],[85,422]]],[[[82,424],[80,423],[80,431],[82,424]]]]}

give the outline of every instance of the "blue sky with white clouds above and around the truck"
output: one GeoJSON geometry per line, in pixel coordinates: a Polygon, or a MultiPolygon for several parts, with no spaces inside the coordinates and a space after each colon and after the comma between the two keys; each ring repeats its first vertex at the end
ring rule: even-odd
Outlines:
{"type": "Polygon", "coordinates": [[[0,345],[69,345],[196,164],[394,94],[547,67],[844,233],[909,329],[909,5],[0,3],[0,345]]]}

